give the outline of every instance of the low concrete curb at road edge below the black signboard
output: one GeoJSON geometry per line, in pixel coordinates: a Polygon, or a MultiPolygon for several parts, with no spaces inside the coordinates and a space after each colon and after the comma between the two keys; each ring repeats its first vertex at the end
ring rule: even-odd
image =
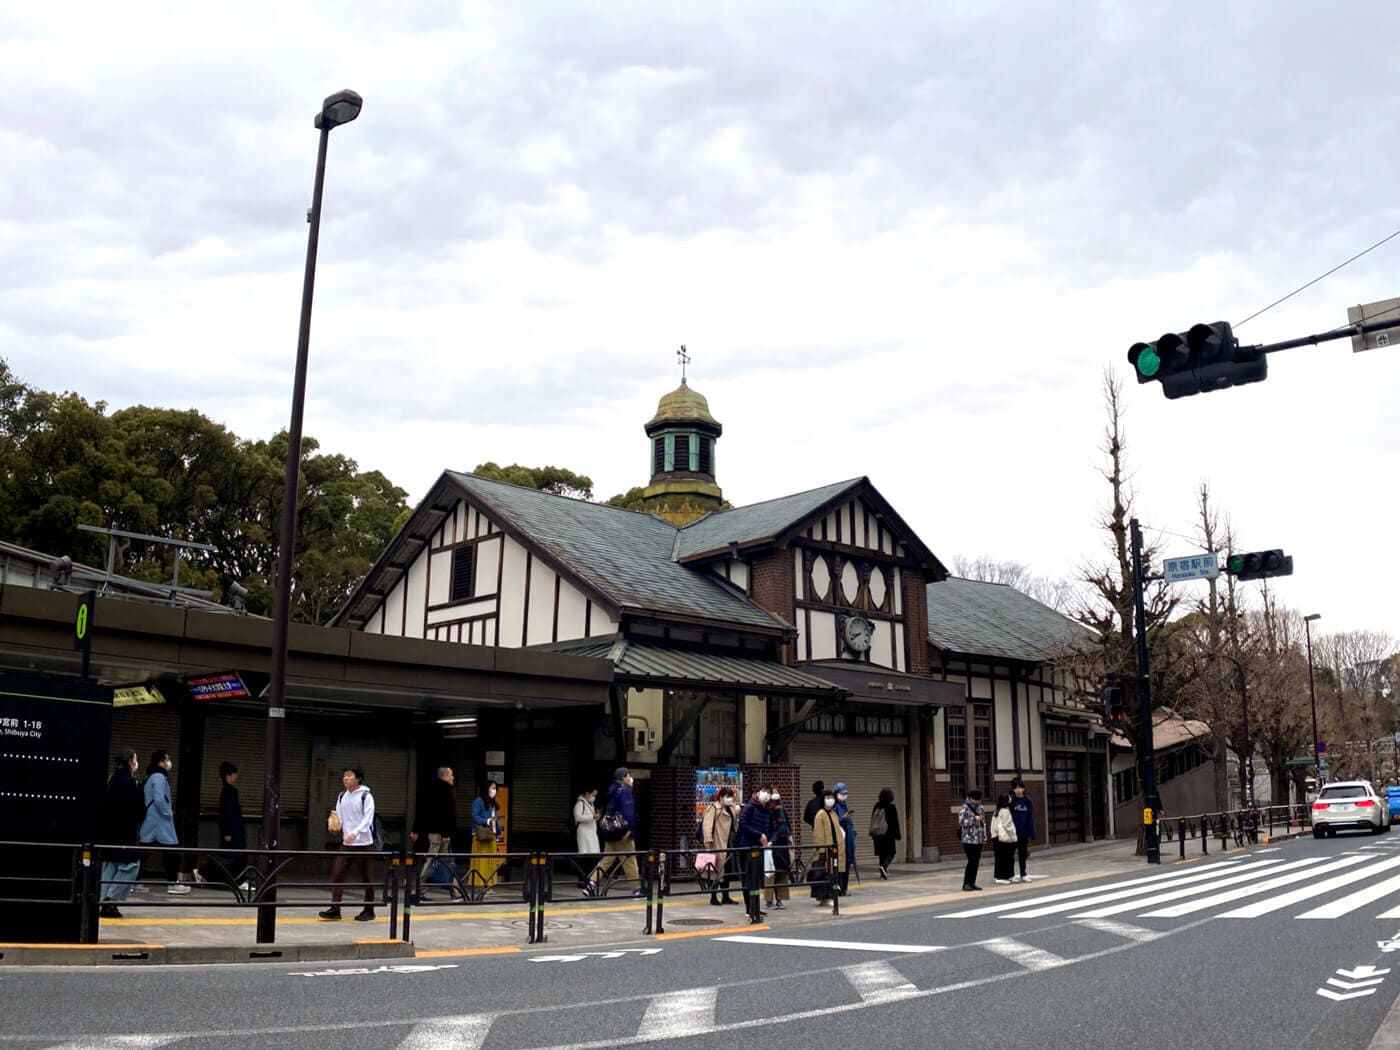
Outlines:
{"type": "Polygon", "coordinates": [[[353,944],[182,946],[158,944],[0,944],[7,966],[209,966],[216,963],[344,962],[412,959],[412,941],[353,944]]]}

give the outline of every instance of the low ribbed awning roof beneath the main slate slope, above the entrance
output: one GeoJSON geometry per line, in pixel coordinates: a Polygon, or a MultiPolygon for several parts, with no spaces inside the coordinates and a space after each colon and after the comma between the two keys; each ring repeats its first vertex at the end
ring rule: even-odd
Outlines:
{"type": "Polygon", "coordinates": [[[741,686],[770,693],[844,696],[846,690],[825,678],[809,675],[757,657],[722,655],[696,650],[619,640],[616,634],[560,641],[532,648],[613,661],[619,679],[648,679],[714,686],[741,686]]]}

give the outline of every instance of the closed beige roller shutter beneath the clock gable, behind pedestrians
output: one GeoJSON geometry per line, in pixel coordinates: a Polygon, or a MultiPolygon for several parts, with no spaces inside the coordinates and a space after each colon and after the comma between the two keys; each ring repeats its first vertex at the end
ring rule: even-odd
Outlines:
{"type": "MultiPolygon", "coordinates": [[[[875,799],[885,788],[895,792],[895,805],[899,809],[899,819],[903,822],[899,840],[900,853],[896,860],[903,860],[909,847],[909,812],[904,804],[904,748],[874,741],[860,741],[836,736],[816,736],[802,734],[792,745],[794,762],[802,767],[804,797],[801,805],[794,805],[788,812],[795,812],[795,819],[801,820],[806,799],[812,797],[813,780],[820,780],[827,788],[836,787],[837,781],[844,781],[850,790],[847,799],[851,806],[851,819],[855,820],[855,860],[861,865],[861,878],[878,878],[875,861],[875,840],[869,836],[871,809],[875,799]]],[[[811,832],[804,834],[804,839],[811,832]]]]}

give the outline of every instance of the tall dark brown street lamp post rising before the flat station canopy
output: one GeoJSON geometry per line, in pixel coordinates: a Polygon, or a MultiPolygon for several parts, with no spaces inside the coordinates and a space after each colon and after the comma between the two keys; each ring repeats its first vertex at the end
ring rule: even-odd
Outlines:
{"type": "MultiPolygon", "coordinates": [[[[272,671],[267,682],[267,727],[263,760],[263,848],[276,850],[281,836],[281,738],[287,718],[287,626],[291,619],[291,563],[297,539],[297,487],[301,473],[301,417],[307,398],[307,351],[311,343],[311,297],[316,284],[316,242],[321,237],[321,188],[326,178],[326,143],[330,129],[360,116],[364,99],[354,91],[337,91],[321,104],[314,125],[321,132],[316,153],[316,182],[311,193],[311,225],[307,234],[307,270],[301,284],[301,328],[297,333],[297,371],[291,384],[291,421],[287,426],[287,466],[283,473],[281,515],[277,532],[277,578],[272,602],[272,671]]],[[[277,885],[272,853],[262,854],[258,907],[258,944],[277,937],[277,885]]]]}

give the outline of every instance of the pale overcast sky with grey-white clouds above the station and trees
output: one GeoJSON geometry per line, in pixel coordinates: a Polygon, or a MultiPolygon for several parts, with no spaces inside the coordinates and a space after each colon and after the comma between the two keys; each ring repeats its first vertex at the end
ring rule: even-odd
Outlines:
{"type": "MultiPolygon", "coordinates": [[[[0,0],[0,356],[28,382],[284,427],[311,120],[350,87],[307,433],[410,500],[486,459],[644,484],[685,343],[732,503],[868,475],[945,561],[1072,575],[1112,368],[1149,536],[1193,533],[1208,480],[1242,546],[1294,554],[1284,602],[1400,634],[1400,347],[1176,402],[1126,361],[1400,228],[1400,8],[80,7],[0,0]]],[[[1239,335],[1344,323],[1397,274],[1400,238],[1239,335]]]]}

